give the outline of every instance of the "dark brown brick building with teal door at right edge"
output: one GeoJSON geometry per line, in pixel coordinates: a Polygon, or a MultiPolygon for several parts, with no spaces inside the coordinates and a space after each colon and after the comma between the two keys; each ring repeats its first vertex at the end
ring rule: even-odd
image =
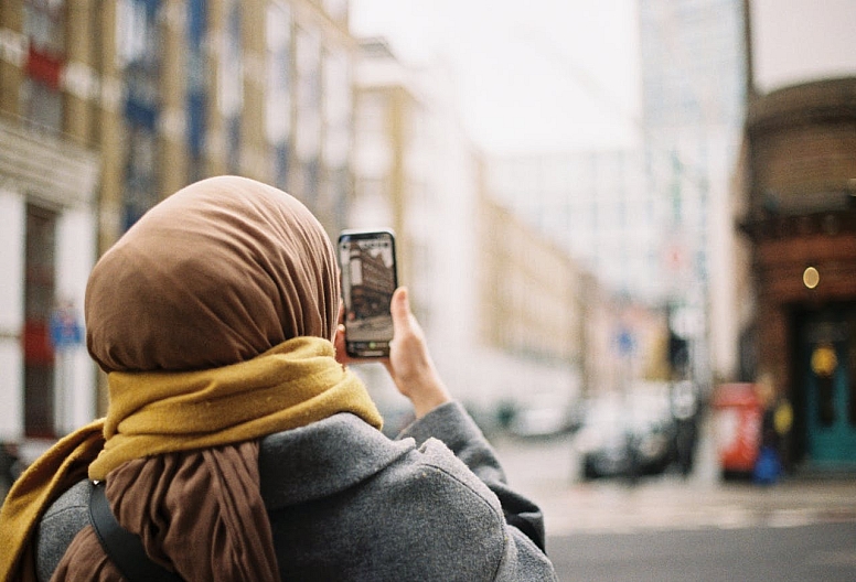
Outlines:
{"type": "Polygon", "coordinates": [[[793,406],[788,460],[856,464],[856,78],[750,101],[742,229],[757,377],[793,406]]]}

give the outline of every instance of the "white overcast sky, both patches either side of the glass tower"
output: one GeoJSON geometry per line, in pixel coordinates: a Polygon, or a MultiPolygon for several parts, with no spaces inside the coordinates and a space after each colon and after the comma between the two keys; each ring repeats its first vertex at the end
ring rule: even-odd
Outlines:
{"type": "MultiPolygon", "coordinates": [[[[856,0],[753,0],[757,86],[856,75],[856,0]]],[[[405,63],[442,56],[464,126],[492,153],[634,139],[636,0],[351,0],[351,28],[405,63]]]]}

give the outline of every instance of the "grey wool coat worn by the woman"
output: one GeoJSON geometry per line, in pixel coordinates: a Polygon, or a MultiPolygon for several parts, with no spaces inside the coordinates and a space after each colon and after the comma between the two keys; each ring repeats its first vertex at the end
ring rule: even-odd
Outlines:
{"type": "MultiPolygon", "coordinates": [[[[259,471],[283,581],[557,580],[541,510],[457,402],[396,440],[347,413],[271,434],[259,471]]],[[[89,491],[75,485],[42,519],[40,580],[88,525],[89,491]]]]}

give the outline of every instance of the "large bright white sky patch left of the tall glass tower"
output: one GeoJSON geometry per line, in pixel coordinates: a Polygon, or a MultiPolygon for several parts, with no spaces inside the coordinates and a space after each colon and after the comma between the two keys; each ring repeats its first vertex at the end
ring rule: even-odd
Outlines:
{"type": "Polygon", "coordinates": [[[447,61],[464,127],[492,153],[609,148],[639,109],[635,0],[352,0],[357,35],[447,61]]]}

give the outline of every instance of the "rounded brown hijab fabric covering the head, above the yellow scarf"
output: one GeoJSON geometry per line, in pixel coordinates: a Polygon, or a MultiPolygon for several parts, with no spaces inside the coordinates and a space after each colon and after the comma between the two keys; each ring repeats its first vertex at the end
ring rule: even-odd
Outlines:
{"type": "Polygon", "coordinates": [[[105,371],[235,364],[291,337],[333,337],[335,254],[298,200],[212,177],[154,206],[101,257],[85,310],[105,371]]]}

